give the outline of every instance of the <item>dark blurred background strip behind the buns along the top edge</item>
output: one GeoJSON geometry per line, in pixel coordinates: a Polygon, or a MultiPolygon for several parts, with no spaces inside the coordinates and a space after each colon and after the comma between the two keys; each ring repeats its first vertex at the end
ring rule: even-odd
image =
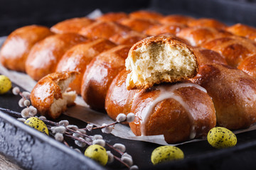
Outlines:
{"type": "Polygon", "coordinates": [[[256,0],[0,0],[0,36],[21,26],[53,26],[66,18],[86,16],[95,8],[103,12],[153,9],[217,18],[228,24],[256,26],[256,0]]]}

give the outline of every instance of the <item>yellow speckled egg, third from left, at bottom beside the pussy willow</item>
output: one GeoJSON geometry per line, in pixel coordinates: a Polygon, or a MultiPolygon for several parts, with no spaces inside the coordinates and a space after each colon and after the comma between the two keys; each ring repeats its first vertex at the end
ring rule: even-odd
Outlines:
{"type": "Polygon", "coordinates": [[[87,149],[85,150],[85,156],[90,157],[90,159],[99,162],[103,166],[107,164],[107,151],[104,147],[100,145],[91,145],[90,147],[87,147],[87,149]]]}

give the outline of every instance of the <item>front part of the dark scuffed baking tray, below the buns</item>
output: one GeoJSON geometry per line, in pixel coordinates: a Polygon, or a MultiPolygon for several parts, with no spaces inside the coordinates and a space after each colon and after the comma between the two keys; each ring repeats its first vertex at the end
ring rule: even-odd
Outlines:
{"type": "MultiPolygon", "coordinates": [[[[11,92],[1,95],[0,107],[21,111],[17,104],[19,99],[19,96],[14,96],[11,92]]],[[[86,125],[81,120],[67,115],[61,115],[59,120],[63,119],[80,128],[86,125]]],[[[119,162],[102,167],[51,137],[1,112],[0,129],[1,154],[24,169],[126,169],[119,162]]],[[[178,145],[183,150],[185,159],[157,166],[151,164],[150,156],[159,145],[124,140],[114,135],[102,134],[100,130],[94,131],[94,134],[103,135],[112,145],[116,142],[126,145],[127,152],[132,155],[134,164],[137,164],[139,169],[256,169],[256,130],[238,134],[238,145],[228,149],[214,149],[207,141],[178,145]]],[[[75,147],[73,141],[68,140],[68,143],[75,147]]]]}

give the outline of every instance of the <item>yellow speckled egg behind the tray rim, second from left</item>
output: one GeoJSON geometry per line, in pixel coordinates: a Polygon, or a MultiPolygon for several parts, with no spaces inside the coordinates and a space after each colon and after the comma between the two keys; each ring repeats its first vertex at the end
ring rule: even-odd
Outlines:
{"type": "Polygon", "coordinates": [[[31,128],[34,128],[40,132],[43,132],[46,135],[49,135],[48,128],[47,128],[46,124],[43,123],[43,121],[40,120],[39,118],[36,118],[36,117],[28,118],[25,121],[25,124],[29,125],[31,128]]]}

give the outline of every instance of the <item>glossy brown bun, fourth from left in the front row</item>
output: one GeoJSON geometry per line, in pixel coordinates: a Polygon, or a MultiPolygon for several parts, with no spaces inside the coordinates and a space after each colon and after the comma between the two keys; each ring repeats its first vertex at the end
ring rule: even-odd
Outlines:
{"type": "Polygon", "coordinates": [[[129,49],[129,45],[114,47],[102,52],[87,66],[82,78],[81,94],[91,108],[104,111],[107,90],[114,77],[124,69],[124,60],[129,49]]]}

